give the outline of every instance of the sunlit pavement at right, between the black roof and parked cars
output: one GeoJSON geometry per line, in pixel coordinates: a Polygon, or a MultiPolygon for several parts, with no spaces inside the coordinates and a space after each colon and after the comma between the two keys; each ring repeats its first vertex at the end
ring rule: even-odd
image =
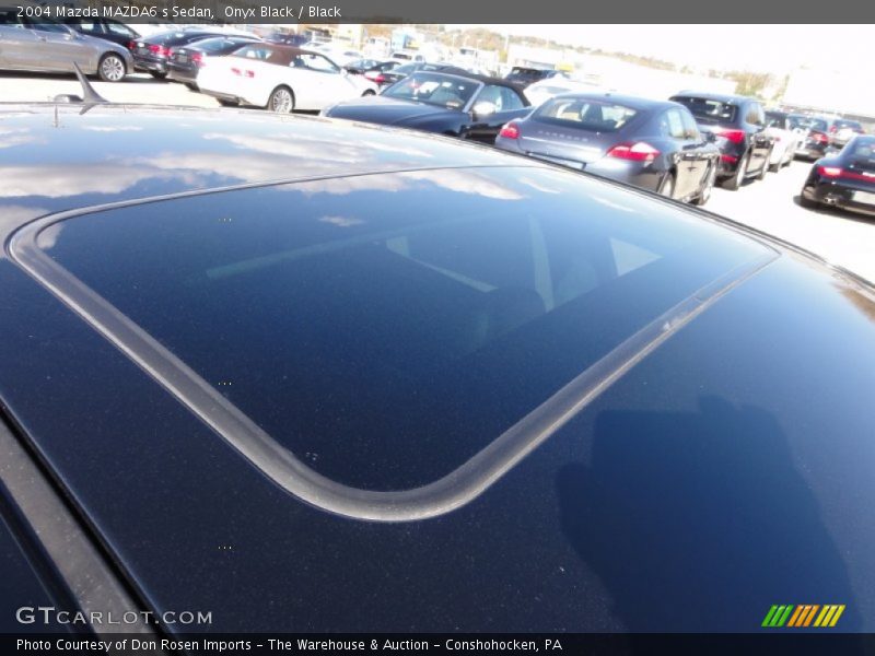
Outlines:
{"type": "Polygon", "coordinates": [[[801,207],[798,194],[810,167],[796,161],[738,191],[714,189],[707,207],[875,282],[875,216],[801,207]]]}

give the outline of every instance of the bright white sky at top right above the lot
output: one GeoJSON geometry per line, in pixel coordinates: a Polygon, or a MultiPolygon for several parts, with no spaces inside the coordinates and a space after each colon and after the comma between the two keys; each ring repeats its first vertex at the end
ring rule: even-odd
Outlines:
{"type": "Polygon", "coordinates": [[[801,65],[814,65],[852,70],[873,81],[873,25],[481,26],[709,68],[785,73],[801,65]]]}

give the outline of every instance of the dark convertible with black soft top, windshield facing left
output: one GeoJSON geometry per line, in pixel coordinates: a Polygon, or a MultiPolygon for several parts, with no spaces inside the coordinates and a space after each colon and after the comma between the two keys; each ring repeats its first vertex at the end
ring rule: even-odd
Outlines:
{"type": "Polygon", "coordinates": [[[457,70],[415,72],[378,96],[345,101],[322,115],[492,143],[505,122],[529,112],[518,86],[457,70]]]}

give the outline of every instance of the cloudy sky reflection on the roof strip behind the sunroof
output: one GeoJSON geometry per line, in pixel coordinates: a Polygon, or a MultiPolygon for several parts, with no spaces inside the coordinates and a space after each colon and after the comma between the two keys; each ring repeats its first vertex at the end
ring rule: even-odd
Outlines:
{"type": "MultiPolygon", "coordinates": [[[[48,107],[0,117],[2,194],[21,207],[57,211],[194,188],[508,163],[498,153],[427,134],[313,117],[124,106],[55,114],[48,107]]],[[[451,174],[446,184],[470,183],[451,174]]]]}

